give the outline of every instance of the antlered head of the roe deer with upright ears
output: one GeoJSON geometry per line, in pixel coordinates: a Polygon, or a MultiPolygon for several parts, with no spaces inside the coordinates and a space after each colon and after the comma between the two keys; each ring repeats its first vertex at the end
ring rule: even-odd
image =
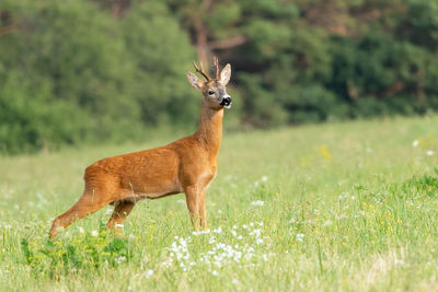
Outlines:
{"type": "Polygon", "coordinates": [[[227,93],[227,84],[231,78],[231,66],[227,66],[219,73],[219,62],[218,58],[214,58],[214,65],[216,69],[215,78],[210,78],[203,68],[203,63],[199,67],[193,62],[196,72],[200,73],[206,81],[200,80],[197,75],[187,71],[188,83],[197,90],[199,90],[204,95],[204,101],[208,104],[210,108],[221,109],[231,107],[231,96],[227,93]]]}

